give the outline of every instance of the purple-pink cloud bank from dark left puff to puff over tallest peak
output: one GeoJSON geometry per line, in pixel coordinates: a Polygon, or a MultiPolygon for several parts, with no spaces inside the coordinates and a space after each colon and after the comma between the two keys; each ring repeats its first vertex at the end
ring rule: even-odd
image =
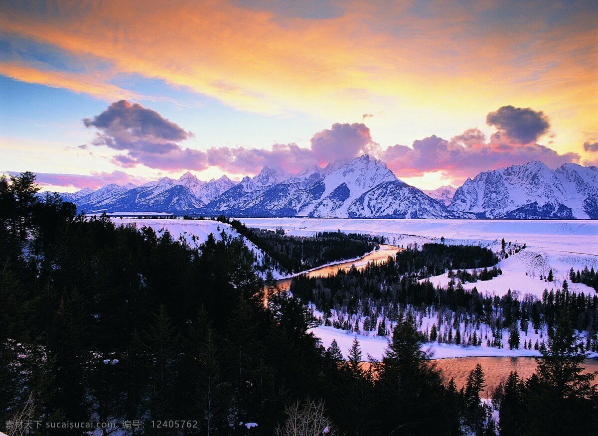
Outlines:
{"type": "Polygon", "coordinates": [[[105,145],[120,153],[111,162],[132,168],[139,164],[161,170],[205,170],[218,166],[224,172],[257,173],[264,166],[299,172],[307,166],[321,165],[335,160],[349,160],[364,153],[379,153],[372,141],[370,129],[363,123],[336,123],[313,135],[310,147],[297,144],[274,144],[263,148],[219,147],[207,151],[183,148],[179,142],[190,138],[191,132],[158,112],[126,100],[112,103],[93,119],[86,118],[87,127],[98,130],[92,145],[105,145]]]}

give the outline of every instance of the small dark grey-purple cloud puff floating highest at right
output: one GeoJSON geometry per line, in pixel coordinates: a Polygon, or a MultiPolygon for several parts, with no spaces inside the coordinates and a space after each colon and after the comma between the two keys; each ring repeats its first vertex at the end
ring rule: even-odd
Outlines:
{"type": "Polygon", "coordinates": [[[532,108],[502,106],[486,117],[489,126],[495,126],[498,133],[508,136],[516,144],[530,144],[548,131],[550,124],[544,112],[532,108]]]}

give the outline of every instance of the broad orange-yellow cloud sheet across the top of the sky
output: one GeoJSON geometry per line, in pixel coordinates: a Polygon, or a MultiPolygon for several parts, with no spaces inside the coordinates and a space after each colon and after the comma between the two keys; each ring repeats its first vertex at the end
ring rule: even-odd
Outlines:
{"type": "MultiPolygon", "coordinates": [[[[500,106],[531,106],[551,116],[555,147],[572,151],[586,140],[579,132],[595,130],[598,112],[598,38],[588,10],[551,2],[347,2],[315,20],[225,1],[59,1],[44,13],[3,8],[0,27],[72,56],[96,56],[113,76],[157,78],[243,111],[301,111],[328,121],[384,111],[386,121],[374,122],[397,120],[389,130],[412,140],[483,125],[479,114],[500,106]]],[[[12,74],[35,81],[32,72],[12,74]]],[[[57,73],[39,83],[94,96],[103,86],[119,92],[106,77],[84,79],[88,91],[57,73]]]]}

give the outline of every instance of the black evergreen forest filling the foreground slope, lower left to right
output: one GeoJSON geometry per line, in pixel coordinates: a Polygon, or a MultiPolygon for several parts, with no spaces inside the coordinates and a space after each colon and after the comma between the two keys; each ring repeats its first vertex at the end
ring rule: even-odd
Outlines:
{"type": "MultiPolygon", "coordinates": [[[[458,391],[420,350],[410,315],[366,371],[359,343],[344,362],[334,343],[324,350],[307,333],[313,318],[300,300],[280,292],[264,307],[241,239],[223,233],[191,248],[167,231],[75,216],[73,205],[40,201],[36,190],[31,173],[0,178],[3,431],[39,421],[28,434],[81,435],[91,430],[45,424],[97,421],[135,435],[269,435],[278,425],[277,434],[293,435],[297,416],[334,435],[494,434],[480,400],[483,368],[458,391]],[[175,420],[191,425],[167,424],[175,420]]],[[[596,388],[579,375],[583,356],[570,359],[578,354],[565,315],[524,397],[534,403],[521,410],[533,413],[504,434],[594,428],[596,388]]],[[[507,411],[520,404],[508,392],[507,411]]]]}

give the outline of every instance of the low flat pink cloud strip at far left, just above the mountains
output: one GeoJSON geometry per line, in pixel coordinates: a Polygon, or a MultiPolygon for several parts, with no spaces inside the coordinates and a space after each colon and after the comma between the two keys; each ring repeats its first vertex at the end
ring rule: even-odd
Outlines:
{"type": "MultiPolygon", "coordinates": [[[[7,171],[10,175],[19,175],[14,171],[7,171]]],[[[62,173],[35,173],[35,181],[41,186],[62,186],[74,188],[97,189],[109,183],[124,185],[132,183],[142,185],[148,180],[141,177],[132,176],[126,172],[115,170],[109,172],[91,171],[89,175],[85,174],[62,174],[62,173]]]]}

